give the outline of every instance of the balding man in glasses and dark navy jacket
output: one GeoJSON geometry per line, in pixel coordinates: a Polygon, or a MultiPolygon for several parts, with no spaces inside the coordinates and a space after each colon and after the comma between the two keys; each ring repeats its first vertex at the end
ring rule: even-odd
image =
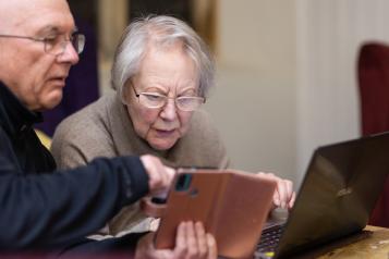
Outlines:
{"type": "MultiPolygon", "coordinates": [[[[123,206],[169,187],[173,172],[151,156],[100,158],[56,171],[33,124],[62,98],[85,38],[65,0],[0,0],[0,250],[134,251],[141,234],[104,242],[97,231],[123,206]]],[[[148,236],[147,236],[148,235],[148,236]]],[[[136,256],[210,258],[215,240],[183,223],[174,250],[155,250],[150,234],[136,256]]]]}

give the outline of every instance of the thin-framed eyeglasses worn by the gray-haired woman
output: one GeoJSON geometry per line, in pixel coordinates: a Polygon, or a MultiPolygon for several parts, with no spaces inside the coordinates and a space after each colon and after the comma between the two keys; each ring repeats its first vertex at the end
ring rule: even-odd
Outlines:
{"type": "Polygon", "coordinates": [[[158,92],[139,92],[137,94],[134,85],[131,83],[141,104],[150,109],[159,109],[168,103],[168,99],[174,99],[177,108],[181,111],[194,111],[205,103],[204,97],[195,96],[180,96],[180,97],[167,97],[158,92]]]}

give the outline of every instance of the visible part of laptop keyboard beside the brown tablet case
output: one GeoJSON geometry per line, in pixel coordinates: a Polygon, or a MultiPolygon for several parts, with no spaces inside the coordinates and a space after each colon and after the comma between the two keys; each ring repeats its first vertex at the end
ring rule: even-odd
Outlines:
{"type": "Polygon", "coordinates": [[[280,240],[284,224],[273,225],[263,231],[259,244],[257,245],[258,252],[273,252],[280,240]]]}

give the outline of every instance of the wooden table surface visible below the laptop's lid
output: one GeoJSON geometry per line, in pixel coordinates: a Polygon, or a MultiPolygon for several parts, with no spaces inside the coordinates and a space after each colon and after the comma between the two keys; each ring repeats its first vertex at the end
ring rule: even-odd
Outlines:
{"type": "Polygon", "coordinates": [[[297,258],[389,259],[389,229],[368,225],[360,234],[304,252],[297,258]]]}

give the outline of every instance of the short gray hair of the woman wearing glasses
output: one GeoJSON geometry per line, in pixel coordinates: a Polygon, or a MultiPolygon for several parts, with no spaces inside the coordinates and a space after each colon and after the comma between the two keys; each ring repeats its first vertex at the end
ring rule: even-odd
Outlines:
{"type": "Polygon", "coordinates": [[[184,22],[171,16],[149,15],[132,22],[125,28],[114,54],[111,84],[122,100],[125,83],[138,72],[147,46],[151,41],[157,46],[183,42],[184,51],[197,67],[198,94],[207,97],[215,76],[215,63],[208,47],[184,22]]]}

